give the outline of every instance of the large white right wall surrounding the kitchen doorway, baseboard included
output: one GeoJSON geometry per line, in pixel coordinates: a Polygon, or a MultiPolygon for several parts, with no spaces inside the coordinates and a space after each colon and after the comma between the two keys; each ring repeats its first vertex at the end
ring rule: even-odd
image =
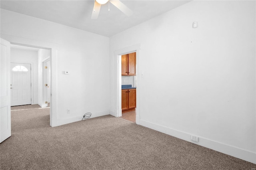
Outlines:
{"type": "Polygon", "coordinates": [[[113,53],[140,44],[140,125],[256,163],[255,14],[255,1],[192,1],[112,36],[111,113],[113,53]]]}

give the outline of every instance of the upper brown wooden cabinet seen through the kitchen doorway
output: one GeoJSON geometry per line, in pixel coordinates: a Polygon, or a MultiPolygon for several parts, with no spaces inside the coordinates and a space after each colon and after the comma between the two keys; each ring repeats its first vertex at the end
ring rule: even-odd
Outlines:
{"type": "Polygon", "coordinates": [[[136,52],[122,55],[122,75],[136,75],[136,52]]]}

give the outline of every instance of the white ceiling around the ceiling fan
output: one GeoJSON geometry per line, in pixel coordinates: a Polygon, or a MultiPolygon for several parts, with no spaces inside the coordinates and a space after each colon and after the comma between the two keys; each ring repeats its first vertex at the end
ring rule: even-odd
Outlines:
{"type": "Polygon", "coordinates": [[[56,22],[102,36],[113,36],[189,0],[120,0],[133,11],[128,17],[110,3],[101,6],[97,20],[91,20],[94,0],[1,0],[2,9],[56,22]]]}

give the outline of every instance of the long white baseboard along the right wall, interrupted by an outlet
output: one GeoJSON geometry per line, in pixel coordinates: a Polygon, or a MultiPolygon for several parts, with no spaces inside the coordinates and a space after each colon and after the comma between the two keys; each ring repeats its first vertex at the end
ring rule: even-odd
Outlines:
{"type": "MultiPolygon", "coordinates": [[[[136,117],[136,120],[137,120],[137,117],[136,117]]],[[[137,121],[136,121],[136,123],[137,123],[137,121]]],[[[155,123],[151,123],[151,122],[144,121],[144,120],[140,120],[140,125],[256,164],[256,153],[254,153],[254,152],[244,150],[242,148],[237,148],[235,146],[231,146],[228,144],[220,143],[220,142],[210,140],[207,138],[203,138],[200,136],[198,136],[198,138],[199,138],[198,142],[193,142],[192,140],[190,140],[191,134],[188,134],[186,132],[182,132],[179,130],[175,130],[172,128],[164,127],[161,125],[157,125],[155,123]]]]}

